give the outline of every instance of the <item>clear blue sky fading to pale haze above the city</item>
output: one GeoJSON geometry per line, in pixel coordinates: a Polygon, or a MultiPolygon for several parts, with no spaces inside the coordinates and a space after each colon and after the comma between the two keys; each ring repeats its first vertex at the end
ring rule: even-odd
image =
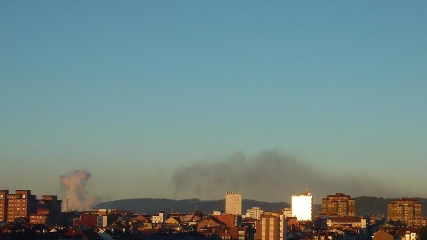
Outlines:
{"type": "Polygon", "coordinates": [[[56,194],[86,169],[91,194],[173,197],[179,166],[274,148],[427,197],[426,12],[1,0],[0,188],[56,194]]]}

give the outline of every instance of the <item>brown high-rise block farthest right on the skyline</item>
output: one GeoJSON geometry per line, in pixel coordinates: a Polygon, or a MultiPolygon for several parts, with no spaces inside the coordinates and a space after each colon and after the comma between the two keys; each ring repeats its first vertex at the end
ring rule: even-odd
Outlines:
{"type": "Polygon", "coordinates": [[[421,203],[411,198],[395,199],[387,204],[387,222],[409,223],[412,218],[421,218],[421,203]]]}

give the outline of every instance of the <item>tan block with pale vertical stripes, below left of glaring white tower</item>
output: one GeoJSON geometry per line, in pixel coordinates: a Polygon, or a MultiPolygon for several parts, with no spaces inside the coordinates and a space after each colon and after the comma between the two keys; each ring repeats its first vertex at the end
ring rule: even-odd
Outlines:
{"type": "Polygon", "coordinates": [[[286,232],[283,214],[265,212],[256,221],[256,240],[284,240],[286,232]]]}

